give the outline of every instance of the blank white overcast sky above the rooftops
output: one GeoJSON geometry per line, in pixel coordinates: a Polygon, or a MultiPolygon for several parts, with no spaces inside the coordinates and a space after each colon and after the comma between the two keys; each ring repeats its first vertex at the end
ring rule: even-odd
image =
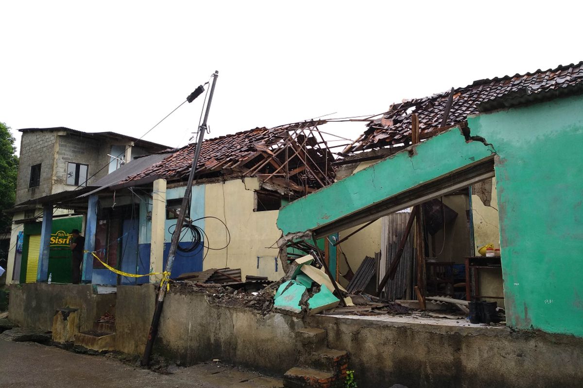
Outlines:
{"type": "MultiPolygon", "coordinates": [[[[216,137],[373,115],[403,98],[583,60],[580,2],[513,4],[3,1],[0,121],[141,137],[219,70],[216,137]]],[[[201,106],[183,105],[146,140],[186,144],[201,106]]],[[[349,138],[364,129],[322,127],[349,138]]]]}

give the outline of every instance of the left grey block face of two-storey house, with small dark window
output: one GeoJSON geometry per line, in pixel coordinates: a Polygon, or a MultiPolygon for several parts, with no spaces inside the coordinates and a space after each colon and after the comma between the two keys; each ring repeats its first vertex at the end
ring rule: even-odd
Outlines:
{"type": "Polygon", "coordinates": [[[20,140],[20,162],[16,181],[16,203],[51,194],[55,132],[24,132],[20,140]],[[29,188],[30,168],[41,163],[40,186],[29,188]]]}

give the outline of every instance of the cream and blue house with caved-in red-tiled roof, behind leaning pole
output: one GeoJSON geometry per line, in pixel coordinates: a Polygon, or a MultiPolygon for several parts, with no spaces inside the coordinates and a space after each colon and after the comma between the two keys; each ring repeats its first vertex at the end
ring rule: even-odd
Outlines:
{"type": "MultiPolygon", "coordinates": [[[[335,179],[333,155],[318,131],[321,123],[257,128],[203,142],[187,209],[192,222],[183,229],[173,277],[209,268],[223,269],[230,280],[281,277],[275,244],[279,208],[335,179]]],[[[106,265],[134,275],[163,271],[195,145],[136,158],[90,181],[77,195],[36,198],[47,214],[65,208],[83,215],[78,226],[88,251],[83,282],[156,281],[156,276],[122,276],[106,265]]],[[[49,272],[38,280],[46,281],[49,272]]],[[[53,279],[61,279],[53,272],[53,279]]]]}

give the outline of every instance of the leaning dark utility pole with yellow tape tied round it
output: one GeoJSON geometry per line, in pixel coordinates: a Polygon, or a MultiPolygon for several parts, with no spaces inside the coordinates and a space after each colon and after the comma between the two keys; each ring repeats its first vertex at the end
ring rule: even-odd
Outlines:
{"type": "MultiPolygon", "coordinates": [[[[192,167],[190,169],[190,175],[188,176],[186,191],[184,192],[184,198],[182,198],[182,205],[180,207],[180,212],[178,213],[178,219],[176,220],[176,227],[174,228],[174,233],[172,234],[172,243],[170,244],[170,251],[168,252],[168,261],[166,264],[167,273],[172,272],[172,265],[174,264],[174,257],[176,255],[176,248],[178,247],[178,243],[180,242],[180,232],[182,231],[182,226],[184,225],[184,215],[189,205],[188,201],[190,201],[191,197],[192,180],[194,180],[198,156],[201,154],[202,140],[206,132],[206,121],[209,118],[210,103],[213,101],[213,94],[215,92],[217,77],[219,77],[219,72],[215,71],[215,73],[213,74],[213,83],[212,86],[210,87],[209,102],[206,104],[205,118],[202,120],[202,124],[198,129],[198,143],[196,143],[196,150],[194,152],[194,159],[192,159],[192,167]]],[[[152,325],[150,325],[150,330],[147,334],[146,350],[144,351],[144,355],[142,358],[142,365],[144,366],[147,366],[150,362],[150,355],[152,355],[152,347],[154,346],[154,341],[156,340],[156,336],[158,334],[158,325],[160,323],[162,307],[164,306],[164,297],[166,296],[168,280],[170,280],[169,277],[170,275],[164,276],[162,283],[160,284],[160,291],[158,292],[156,309],[154,309],[152,325]]]]}

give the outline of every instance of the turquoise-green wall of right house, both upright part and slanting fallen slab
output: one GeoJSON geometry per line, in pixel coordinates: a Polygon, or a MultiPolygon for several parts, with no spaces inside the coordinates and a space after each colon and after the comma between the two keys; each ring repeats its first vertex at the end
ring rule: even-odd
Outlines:
{"type": "Polygon", "coordinates": [[[583,97],[468,120],[279,213],[285,234],[313,230],[496,153],[507,324],[583,337],[583,97]]]}

